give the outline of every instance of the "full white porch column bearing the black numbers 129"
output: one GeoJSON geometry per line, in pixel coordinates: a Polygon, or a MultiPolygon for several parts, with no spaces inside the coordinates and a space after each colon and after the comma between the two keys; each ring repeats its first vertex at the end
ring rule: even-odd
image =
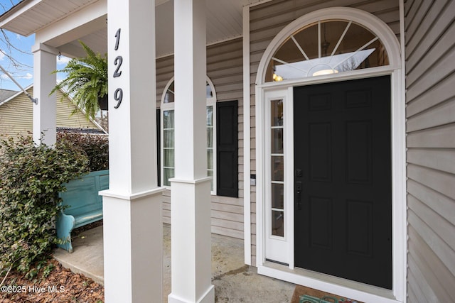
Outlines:
{"type": "Polygon", "coordinates": [[[155,1],[108,0],[107,13],[109,189],[101,192],[105,300],[161,302],[155,1]]]}

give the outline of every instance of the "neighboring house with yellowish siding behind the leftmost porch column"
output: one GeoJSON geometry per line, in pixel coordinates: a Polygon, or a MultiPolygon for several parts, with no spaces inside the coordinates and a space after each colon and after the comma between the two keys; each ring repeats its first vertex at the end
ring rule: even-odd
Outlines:
{"type": "MultiPolygon", "coordinates": [[[[26,88],[33,94],[33,85],[26,88]]],[[[58,100],[63,92],[57,92],[58,100]]],[[[76,105],[70,98],[56,102],[56,123],[58,129],[66,129],[80,133],[107,133],[96,121],[85,118],[85,113],[80,110],[72,114],[76,105]]],[[[0,90],[0,135],[26,136],[33,131],[33,104],[23,92],[0,90]],[[9,97],[7,97],[9,95],[9,97]],[[6,99],[4,99],[6,97],[6,99]]]]}

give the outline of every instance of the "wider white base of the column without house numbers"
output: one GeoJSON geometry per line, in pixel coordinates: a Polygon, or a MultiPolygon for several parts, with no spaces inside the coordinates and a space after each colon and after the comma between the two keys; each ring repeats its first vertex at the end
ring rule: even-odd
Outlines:
{"type": "Polygon", "coordinates": [[[210,180],[171,179],[171,281],[168,302],[215,302],[211,281],[210,180]]]}

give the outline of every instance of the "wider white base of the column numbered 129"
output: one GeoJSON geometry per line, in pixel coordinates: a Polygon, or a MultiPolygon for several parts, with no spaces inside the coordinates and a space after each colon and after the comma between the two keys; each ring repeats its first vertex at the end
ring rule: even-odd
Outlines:
{"type": "Polygon", "coordinates": [[[103,245],[106,302],[161,302],[164,188],[137,194],[106,190],[103,245]]]}

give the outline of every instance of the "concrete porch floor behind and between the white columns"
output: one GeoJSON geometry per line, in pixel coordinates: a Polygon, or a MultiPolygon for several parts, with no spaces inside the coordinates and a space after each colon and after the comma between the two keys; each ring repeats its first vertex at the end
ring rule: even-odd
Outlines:
{"type": "MultiPolygon", "coordinates": [[[[171,293],[171,227],[163,227],[163,302],[171,293]]],[[[102,226],[80,233],[73,253],[58,248],[54,258],[65,268],[103,282],[102,226]]],[[[212,284],[215,302],[290,302],[294,284],[258,275],[244,264],[243,241],[212,234],[212,284]]]]}

